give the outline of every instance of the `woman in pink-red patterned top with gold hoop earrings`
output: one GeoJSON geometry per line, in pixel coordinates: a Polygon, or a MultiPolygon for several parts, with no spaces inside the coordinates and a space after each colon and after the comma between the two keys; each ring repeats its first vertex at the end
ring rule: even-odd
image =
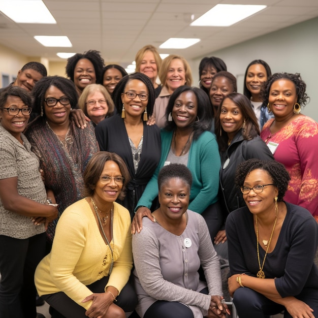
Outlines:
{"type": "Polygon", "coordinates": [[[300,113],[308,99],[306,84],[298,73],[275,73],[262,95],[274,118],[261,137],[291,175],[284,200],[306,208],[318,221],[318,123],[300,113]]]}

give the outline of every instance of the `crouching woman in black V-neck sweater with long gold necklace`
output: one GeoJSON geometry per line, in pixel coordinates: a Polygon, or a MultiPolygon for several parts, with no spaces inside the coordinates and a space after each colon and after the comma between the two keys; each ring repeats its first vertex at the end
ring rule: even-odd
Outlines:
{"type": "Polygon", "coordinates": [[[238,315],[316,317],[318,225],[308,210],[283,201],[289,173],[277,161],[251,159],[238,166],[235,181],[246,203],[226,224],[238,315]]]}

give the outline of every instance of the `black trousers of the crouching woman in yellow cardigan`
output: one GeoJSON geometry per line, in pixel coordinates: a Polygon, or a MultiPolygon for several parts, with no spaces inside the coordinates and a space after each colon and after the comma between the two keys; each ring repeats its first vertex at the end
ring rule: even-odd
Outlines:
{"type": "MultiPolygon", "coordinates": [[[[87,285],[92,293],[104,293],[105,286],[108,282],[108,276],[87,285]]],[[[78,305],[65,293],[43,295],[42,298],[52,307],[50,313],[52,318],[87,318],[86,309],[78,305]]],[[[132,285],[128,282],[116,298],[116,305],[123,309],[124,312],[134,311],[138,299],[132,285]]]]}

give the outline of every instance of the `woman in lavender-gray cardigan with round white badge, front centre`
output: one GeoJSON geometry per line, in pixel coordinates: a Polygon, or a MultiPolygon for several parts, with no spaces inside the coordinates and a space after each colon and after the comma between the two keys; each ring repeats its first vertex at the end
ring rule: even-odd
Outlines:
{"type": "Polygon", "coordinates": [[[160,208],[133,236],[136,311],[142,318],[225,318],[218,257],[204,218],[187,210],[192,175],[182,164],[158,175],[160,208]],[[200,281],[202,265],[206,282],[200,281]],[[214,295],[214,296],[212,296],[214,295]]]}

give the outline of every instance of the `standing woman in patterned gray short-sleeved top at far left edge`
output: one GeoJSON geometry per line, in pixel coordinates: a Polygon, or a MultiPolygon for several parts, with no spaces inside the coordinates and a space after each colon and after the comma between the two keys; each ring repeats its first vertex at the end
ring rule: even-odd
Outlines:
{"type": "Polygon", "coordinates": [[[34,272],[45,256],[45,229],[57,216],[45,204],[39,160],[22,134],[31,97],[12,86],[0,94],[0,317],[35,318],[34,272]]]}

